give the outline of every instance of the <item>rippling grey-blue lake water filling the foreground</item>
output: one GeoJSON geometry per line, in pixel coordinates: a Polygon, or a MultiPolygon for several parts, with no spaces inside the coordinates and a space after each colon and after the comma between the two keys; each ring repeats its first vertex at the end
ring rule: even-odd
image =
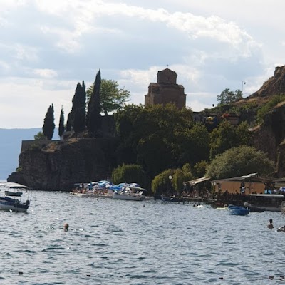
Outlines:
{"type": "Polygon", "coordinates": [[[235,217],[192,204],[33,191],[27,214],[0,215],[0,284],[285,282],[280,212],[235,217]]]}

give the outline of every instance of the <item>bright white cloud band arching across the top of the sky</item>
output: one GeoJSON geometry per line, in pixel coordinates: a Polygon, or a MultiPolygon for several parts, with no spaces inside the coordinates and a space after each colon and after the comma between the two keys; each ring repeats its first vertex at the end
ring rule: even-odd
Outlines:
{"type": "MultiPolygon", "coordinates": [[[[54,33],[58,36],[56,46],[71,53],[77,52],[82,46],[81,37],[91,32],[101,31],[97,28],[100,19],[104,17],[118,17],[120,24],[125,19],[132,21],[151,21],[165,24],[165,28],[175,28],[185,33],[192,40],[212,38],[226,43],[234,48],[240,56],[250,56],[252,48],[258,44],[245,31],[242,31],[232,21],[225,21],[218,16],[195,16],[191,13],[170,13],[165,9],[145,9],[138,6],[128,6],[123,3],[103,1],[36,1],[38,9],[53,16],[66,16],[70,26],[66,28],[43,26],[44,33],[54,33]],[[86,9],[88,7],[88,9],[86,9]]],[[[115,26],[105,26],[107,30],[115,31],[115,26]]],[[[127,28],[128,27],[124,27],[127,28]]],[[[130,27],[129,27],[130,28],[130,27]]]]}

